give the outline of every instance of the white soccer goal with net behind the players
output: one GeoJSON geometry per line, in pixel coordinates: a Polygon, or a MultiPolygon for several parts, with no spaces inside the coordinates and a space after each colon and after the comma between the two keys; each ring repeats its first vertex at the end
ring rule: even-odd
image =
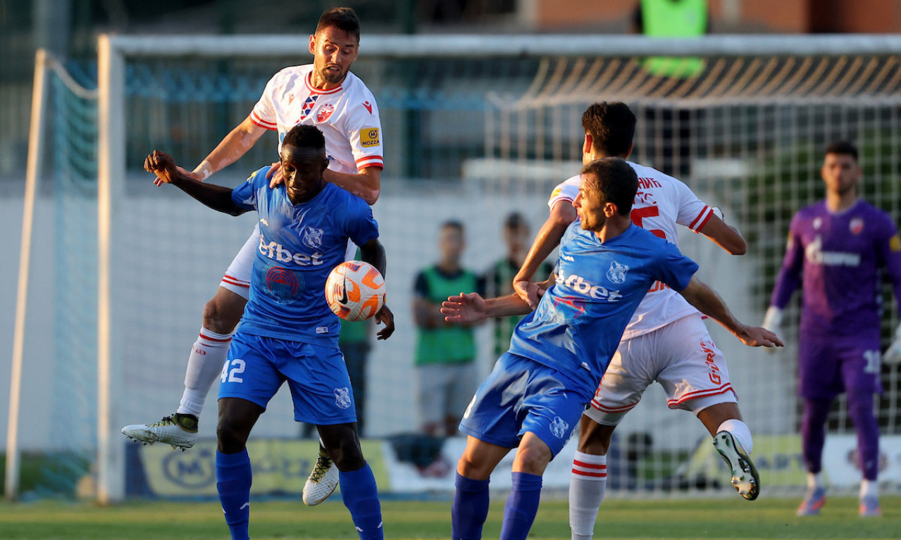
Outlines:
{"type": "MultiPolygon", "coordinates": [[[[34,370],[50,376],[21,440],[23,448],[77,455],[65,472],[50,474],[68,482],[51,482],[50,491],[72,492],[79,480],[95,478],[102,499],[123,497],[127,446],[118,430],[175,411],[204,303],[253,228],[252,216],[217,214],[175,188],[155,187],[143,158],[158,148],[195,166],[250,112],[269,76],[309,61],[298,54],[305,48],[293,36],[105,37],[98,66],[69,67],[86,86],[100,86],[99,102],[53,85],[41,154],[47,175],[35,207],[35,223],[46,229],[34,235],[29,291],[29,305],[53,316],[28,327],[23,377],[34,370]],[[69,120],[83,108],[86,117],[69,120]],[[47,256],[52,263],[41,264],[47,256]],[[41,338],[33,337],[37,328],[41,338]],[[52,346],[36,347],[48,336],[52,346]]],[[[419,429],[413,286],[417,272],[440,257],[441,223],[465,224],[463,266],[482,273],[504,258],[505,217],[520,212],[533,235],[551,188],[578,173],[581,113],[596,101],[628,103],[638,117],[632,158],[678,176],[742,230],[749,245],[743,257],[690,233],[680,247],[741,320],[760,323],[788,222],[822,197],[818,171],[829,142],[857,144],[862,195],[901,217],[899,49],[901,40],[885,37],[364,36],[353,71],[381,113],[386,166],[373,211],[397,327],[392,338],[372,343],[364,436],[392,439],[419,429]],[[696,71],[669,76],[655,73],[649,56],[702,61],[696,71]]],[[[56,71],[49,77],[61,80],[56,71]]],[[[234,186],[277,159],[275,137],[264,135],[210,181],[234,186]]],[[[888,288],[883,294],[888,338],[897,314],[888,288]]],[[[38,316],[30,310],[31,323],[38,316]]],[[[772,355],[708,325],[728,358],[770,494],[803,487],[796,304],[786,320],[788,347],[772,355]]],[[[477,329],[481,375],[496,359],[493,338],[491,325],[477,329]]],[[[879,423],[886,436],[897,436],[897,368],[883,367],[883,378],[879,423]]],[[[298,437],[292,418],[290,400],[279,394],[253,437],[298,437]]],[[[214,428],[211,392],[200,437],[214,438],[214,428]]],[[[841,406],[830,434],[853,448],[841,406]]],[[[705,437],[700,422],[668,410],[663,392],[651,387],[617,428],[610,488],[642,495],[731,490],[705,437]]],[[[853,477],[844,485],[856,485],[853,464],[842,466],[853,477]]],[[[452,480],[436,482],[423,485],[452,489],[452,480]]]]}

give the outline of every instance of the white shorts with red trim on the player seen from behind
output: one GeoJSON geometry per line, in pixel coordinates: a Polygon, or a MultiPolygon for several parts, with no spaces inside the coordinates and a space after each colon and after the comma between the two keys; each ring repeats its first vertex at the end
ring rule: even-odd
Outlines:
{"type": "Polygon", "coordinates": [[[723,353],[696,314],[623,339],[585,414],[598,424],[616,426],[654,381],[667,392],[669,409],[697,414],[737,402],[723,353]]]}

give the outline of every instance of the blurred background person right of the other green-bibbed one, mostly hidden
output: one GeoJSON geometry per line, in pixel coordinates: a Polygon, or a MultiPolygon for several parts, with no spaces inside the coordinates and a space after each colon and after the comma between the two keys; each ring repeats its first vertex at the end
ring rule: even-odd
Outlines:
{"type": "MultiPolygon", "coordinates": [[[[487,296],[495,298],[514,293],[513,278],[523,266],[529,247],[532,245],[532,235],[529,224],[523,218],[523,214],[513,211],[507,214],[504,220],[504,242],[507,252],[504,258],[499,259],[485,273],[485,289],[487,296]]],[[[554,267],[545,261],[536,273],[537,281],[546,279],[554,267]]],[[[523,319],[523,315],[514,317],[496,317],[494,320],[494,352],[495,356],[503,355],[510,347],[510,338],[513,329],[523,319]]]]}

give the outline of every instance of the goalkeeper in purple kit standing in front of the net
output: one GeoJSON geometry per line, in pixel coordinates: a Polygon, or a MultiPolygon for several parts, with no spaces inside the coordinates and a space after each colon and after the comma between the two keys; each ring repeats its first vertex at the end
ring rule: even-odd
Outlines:
{"type": "MultiPolygon", "coordinates": [[[[764,326],[777,329],[792,293],[802,286],[797,392],[804,401],[801,446],[807,493],[798,516],[815,516],[826,501],[823,446],[835,396],[846,392],[857,430],[860,516],[879,516],[879,427],[873,395],[879,381],[880,269],[901,303],[901,239],[885,211],[857,198],[858,152],[851,143],[826,148],[820,171],[826,198],[798,211],[764,326]]],[[[901,361],[901,327],[885,359],[901,361]]]]}

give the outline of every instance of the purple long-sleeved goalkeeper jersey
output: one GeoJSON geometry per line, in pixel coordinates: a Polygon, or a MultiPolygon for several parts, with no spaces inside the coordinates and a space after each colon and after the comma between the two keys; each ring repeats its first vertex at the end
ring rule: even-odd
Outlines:
{"type": "Polygon", "coordinates": [[[816,202],[791,221],[770,304],[784,309],[803,283],[802,333],[878,338],[882,267],[901,302],[901,239],[885,211],[859,200],[833,213],[816,202]]]}

